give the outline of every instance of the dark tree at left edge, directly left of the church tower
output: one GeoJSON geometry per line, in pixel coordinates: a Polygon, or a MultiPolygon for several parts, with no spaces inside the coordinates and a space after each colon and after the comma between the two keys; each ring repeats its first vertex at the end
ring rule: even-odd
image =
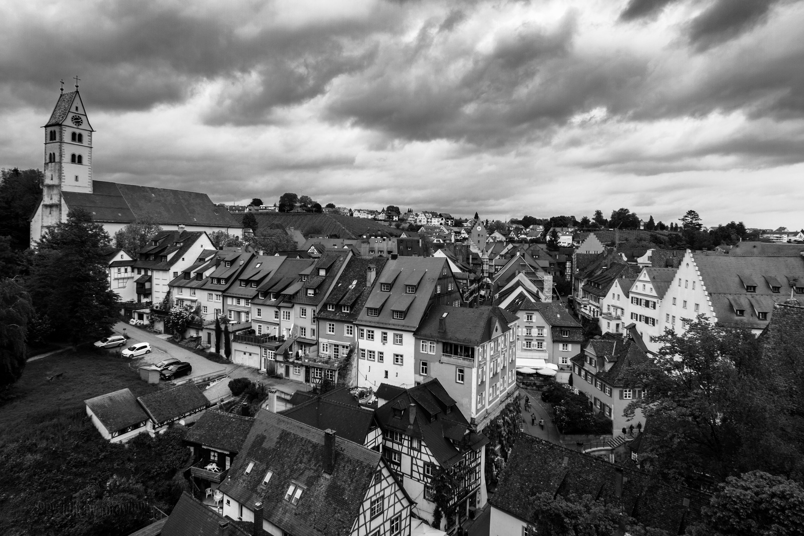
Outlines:
{"type": "Polygon", "coordinates": [[[0,236],[11,237],[11,248],[31,247],[31,214],[42,195],[39,170],[0,170],[0,236]]]}

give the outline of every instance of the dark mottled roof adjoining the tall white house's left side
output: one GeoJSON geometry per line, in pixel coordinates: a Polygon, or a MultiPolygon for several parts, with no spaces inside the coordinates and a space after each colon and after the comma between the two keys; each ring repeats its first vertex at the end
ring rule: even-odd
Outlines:
{"type": "Polygon", "coordinates": [[[371,288],[375,286],[379,274],[383,271],[386,257],[359,257],[354,256],[343,268],[341,276],[332,286],[330,295],[326,297],[325,304],[335,306],[334,311],[322,307],[318,313],[319,318],[340,321],[354,321],[363,310],[363,305],[371,295],[371,288]],[[367,284],[368,269],[374,268],[374,282],[367,284]],[[349,305],[349,313],[343,313],[343,305],[349,305]]]}

